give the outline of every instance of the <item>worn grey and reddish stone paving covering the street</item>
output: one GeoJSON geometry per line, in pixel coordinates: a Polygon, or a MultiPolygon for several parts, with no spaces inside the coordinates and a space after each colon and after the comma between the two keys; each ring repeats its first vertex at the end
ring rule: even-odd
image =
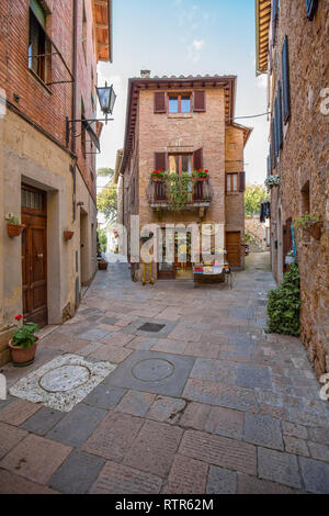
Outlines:
{"type": "Polygon", "coordinates": [[[300,340],[264,334],[268,260],[232,290],[99,272],[35,363],[3,372],[66,354],[116,369],[70,412],[0,402],[0,492],[329,493],[329,405],[300,340]]]}

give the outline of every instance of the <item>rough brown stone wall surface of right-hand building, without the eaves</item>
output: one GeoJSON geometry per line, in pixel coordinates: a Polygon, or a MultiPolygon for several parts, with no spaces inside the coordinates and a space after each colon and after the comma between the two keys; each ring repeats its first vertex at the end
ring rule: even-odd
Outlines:
{"type": "MultiPolygon", "coordinates": [[[[321,215],[319,240],[296,235],[302,276],[302,338],[317,375],[329,372],[329,114],[321,113],[321,92],[329,87],[329,0],[318,2],[313,21],[305,2],[282,0],[273,52],[273,91],[282,80],[281,52],[288,37],[291,119],[284,126],[284,143],[277,172],[280,189],[272,194],[273,267],[282,279],[283,226],[307,209],[321,215]]],[[[273,103],[272,103],[273,105],[273,103]]]]}

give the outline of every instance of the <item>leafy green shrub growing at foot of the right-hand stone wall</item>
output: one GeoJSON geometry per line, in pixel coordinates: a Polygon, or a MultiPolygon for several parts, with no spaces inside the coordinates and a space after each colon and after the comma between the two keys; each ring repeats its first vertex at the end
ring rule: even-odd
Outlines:
{"type": "Polygon", "coordinates": [[[299,336],[300,304],[300,276],[295,262],[282,284],[269,292],[268,333],[299,336]]]}

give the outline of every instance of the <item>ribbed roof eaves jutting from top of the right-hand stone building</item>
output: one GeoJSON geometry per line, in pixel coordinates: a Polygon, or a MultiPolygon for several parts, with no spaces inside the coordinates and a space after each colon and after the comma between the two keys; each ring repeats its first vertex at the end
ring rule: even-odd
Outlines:
{"type": "Polygon", "coordinates": [[[268,71],[271,0],[256,0],[256,72],[268,71]]]}

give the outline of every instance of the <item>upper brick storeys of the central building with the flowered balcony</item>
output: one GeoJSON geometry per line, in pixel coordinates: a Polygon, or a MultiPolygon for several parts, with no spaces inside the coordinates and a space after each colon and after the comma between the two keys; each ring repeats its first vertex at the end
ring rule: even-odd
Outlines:
{"type": "MultiPolygon", "coordinates": [[[[243,149],[251,130],[232,122],[235,96],[234,76],[151,78],[144,74],[129,79],[125,148],[116,175],[118,221],[127,229],[128,245],[131,215],[139,215],[140,228],[212,222],[223,227],[230,265],[243,267],[243,149]],[[150,180],[157,169],[180,177],[207,169],[208,180],[191,187],[186,205],[174,211],[163,186],[150,180]]],[[[177,256],[174,261],[154,263],[154,277],[181,277],[185,267],[180,267],[177,256]]]]}

